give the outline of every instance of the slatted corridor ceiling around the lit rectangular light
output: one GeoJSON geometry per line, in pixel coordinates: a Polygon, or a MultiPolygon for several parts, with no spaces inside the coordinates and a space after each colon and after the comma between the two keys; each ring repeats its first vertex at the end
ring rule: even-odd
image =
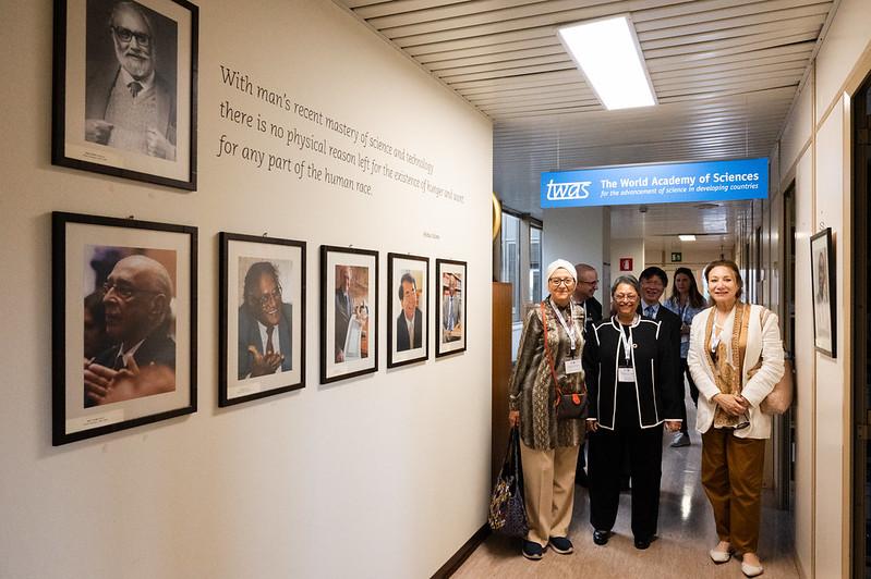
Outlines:
{"type": "MultiPolygon", "coordinates": [[[[833,0],[334,1],[493,121],[494,190],[505,206],[536,217],[542,171],[766,156],[835,5],[833,0]],[[557,39],[560,25],[614,14],[629,14],[634,23],[655,107],[604,110],[557,39]]],[[[728,224],[727,214],[741,209],[736,207],[707,209],[718,217],[699,215],[698,225],[728,224]]],[[[699,211],[687,207],[681,213],[699,211]]],[[[667,214],[664,209],[660,219],[660,210],[651,208],[644,219],[676,226],[667,214]]]]}

